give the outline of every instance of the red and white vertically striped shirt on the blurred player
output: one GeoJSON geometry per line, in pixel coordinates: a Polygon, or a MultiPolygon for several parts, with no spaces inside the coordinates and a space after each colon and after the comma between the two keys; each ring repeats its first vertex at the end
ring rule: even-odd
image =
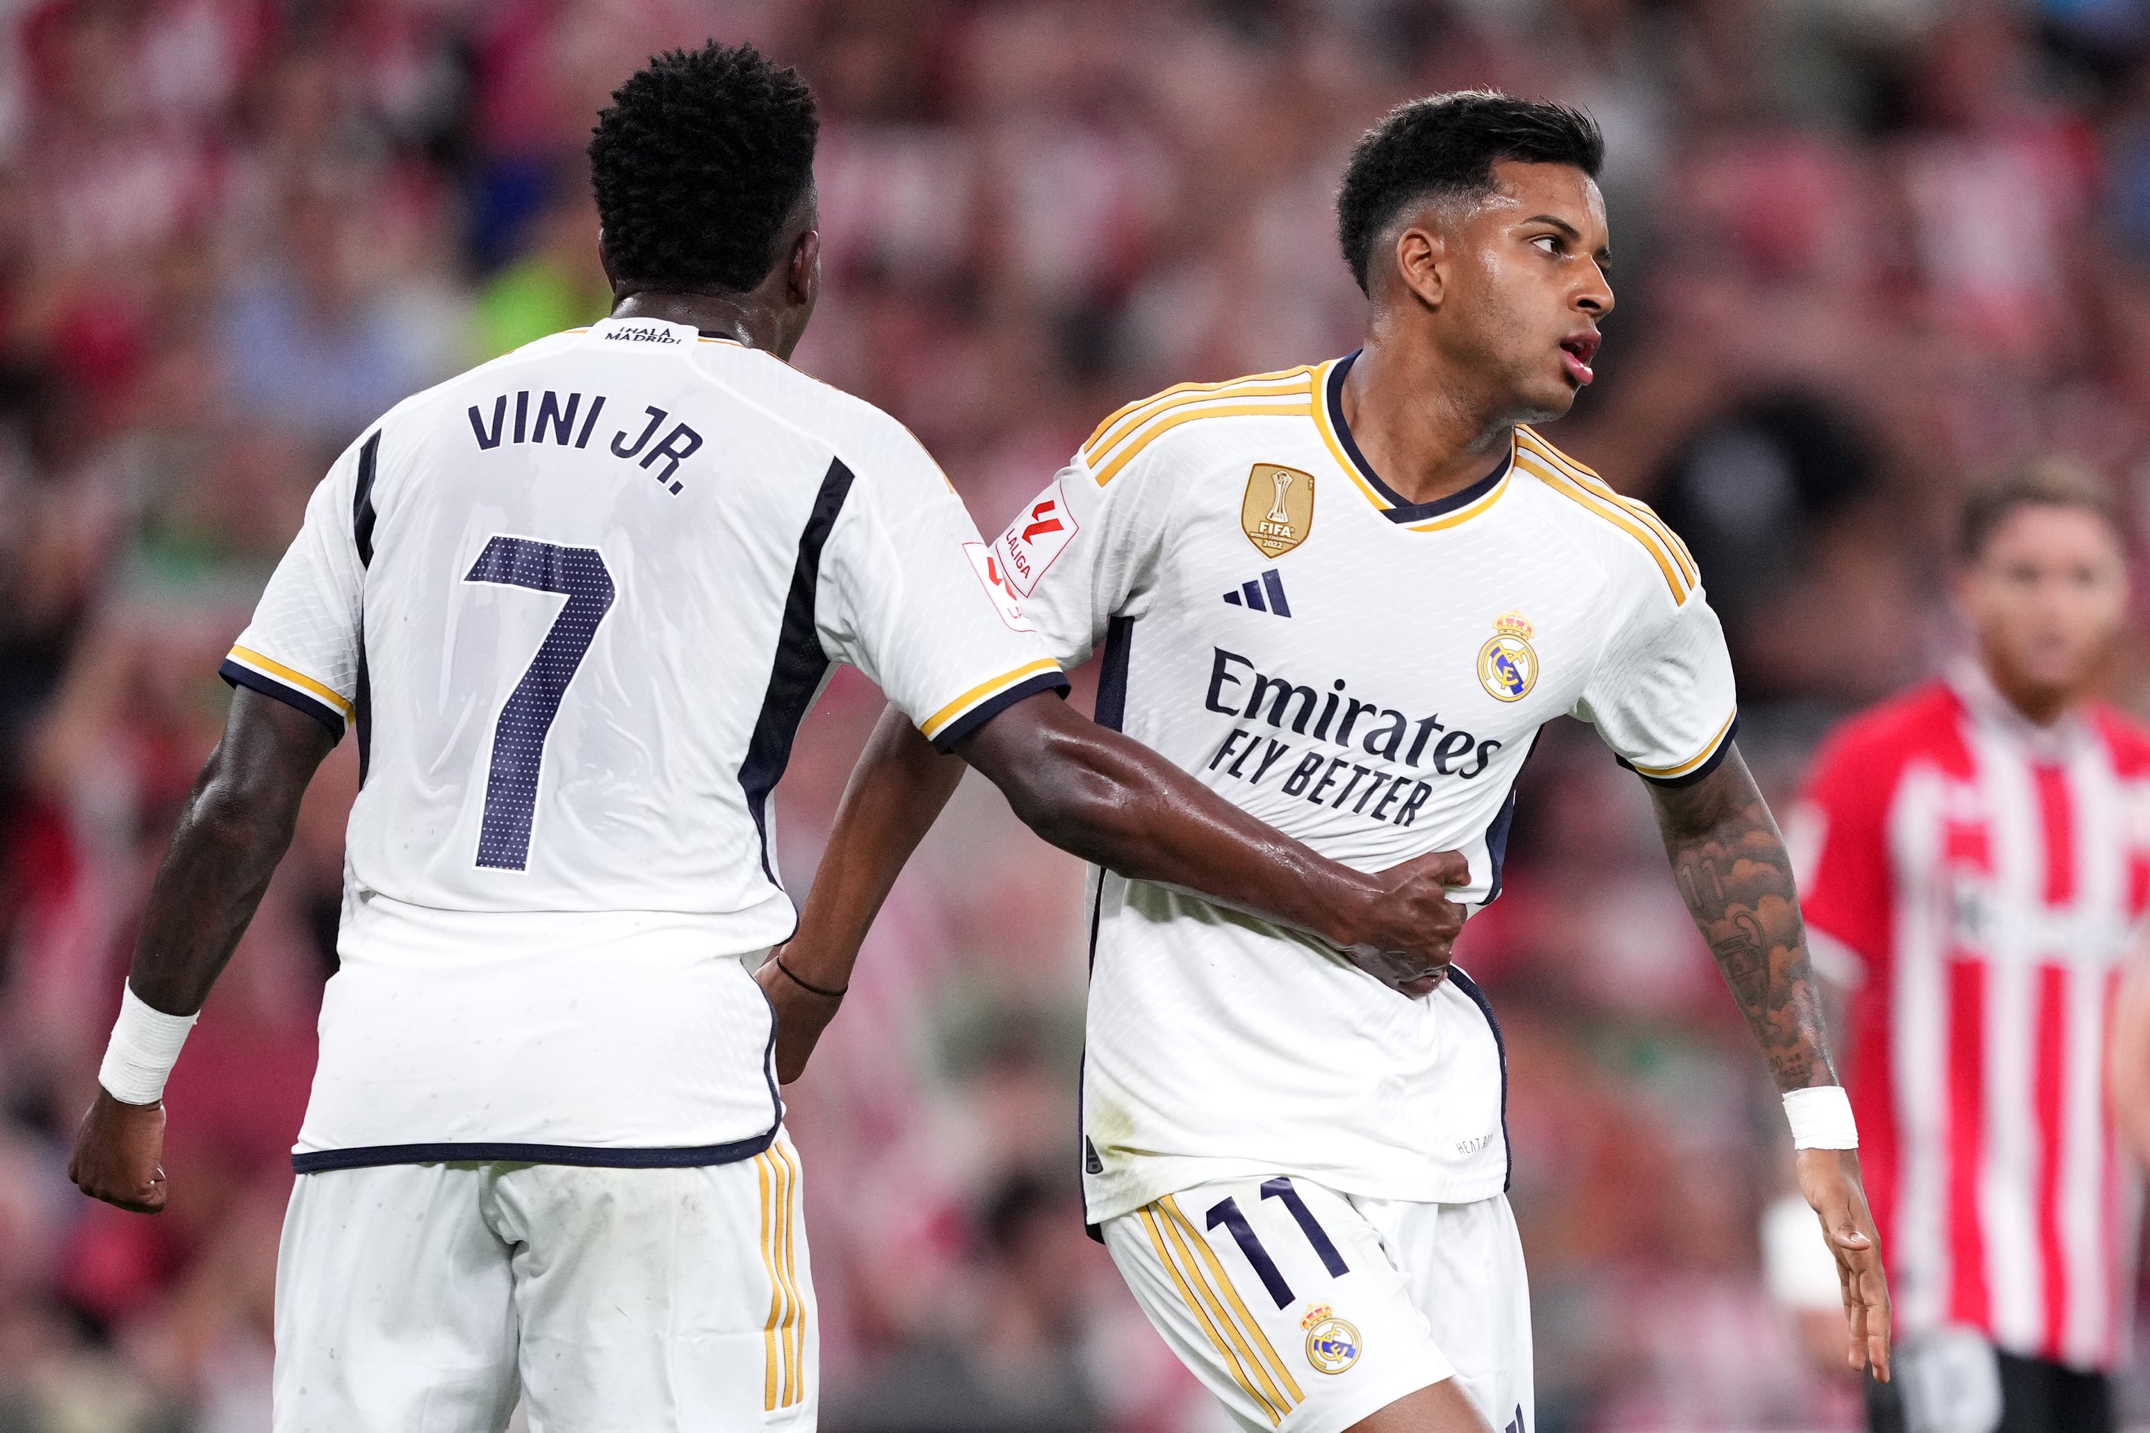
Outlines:
{"type": "Polygon", "coordinates": [[[1853,986],[1851,1104],[1898,1328],[2111,1369],[2141,1186],[2105,1051],[2150,900],[2150,733],[2038,728],[1969,668],[1843,726],[1793,849],[1853,986]]]}

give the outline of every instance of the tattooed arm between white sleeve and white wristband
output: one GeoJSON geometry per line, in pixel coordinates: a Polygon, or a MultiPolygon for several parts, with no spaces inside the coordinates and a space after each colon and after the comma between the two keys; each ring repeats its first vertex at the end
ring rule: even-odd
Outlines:
{"type": "Polygon", "coordinates": [[[1834,1079],[1791,855],[1737,752],[1705,780],[1651,788],[1679,894],[1761,1042],[1778,1089],[1834,1079]]]}

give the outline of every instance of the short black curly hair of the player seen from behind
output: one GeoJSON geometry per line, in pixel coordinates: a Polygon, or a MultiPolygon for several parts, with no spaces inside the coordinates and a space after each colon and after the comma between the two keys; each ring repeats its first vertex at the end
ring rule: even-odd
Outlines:
{"type": "Polygon", "coordinates": [[[613,273],[684,292],[761,284],[813,183],[819,127],[798,71],[752,45],[651,58],[613,90],[589,140],[613,273]]]}

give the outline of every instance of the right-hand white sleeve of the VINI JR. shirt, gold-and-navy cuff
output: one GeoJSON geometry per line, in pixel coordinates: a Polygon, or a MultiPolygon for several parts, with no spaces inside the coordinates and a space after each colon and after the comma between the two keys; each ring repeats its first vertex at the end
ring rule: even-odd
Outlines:
{"type": "Polygon", "coordinates": [[[918,440],[901,434],[858,462],[821,559],[821,649],[942,750],[1026,696],[1066,692],[1021,608],[993,589],[970,511],[918,440]]]}

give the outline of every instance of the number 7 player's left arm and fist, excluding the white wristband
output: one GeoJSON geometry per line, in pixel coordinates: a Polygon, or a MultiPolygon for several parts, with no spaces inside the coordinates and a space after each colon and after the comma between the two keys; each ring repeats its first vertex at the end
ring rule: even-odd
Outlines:
{"type": "MultiPolygon", "coordinates": [[[[299,799],[335,746],[314,718],[247,687],[194,782],[142,915],[127,986],[166,1016],[209,999],[290,846],[299,799]]],[[[163,1102],[125,1104],[99,1087],[75,1132],[67,1177],[123,1210],[163,1210],[163,1102]]]]}

